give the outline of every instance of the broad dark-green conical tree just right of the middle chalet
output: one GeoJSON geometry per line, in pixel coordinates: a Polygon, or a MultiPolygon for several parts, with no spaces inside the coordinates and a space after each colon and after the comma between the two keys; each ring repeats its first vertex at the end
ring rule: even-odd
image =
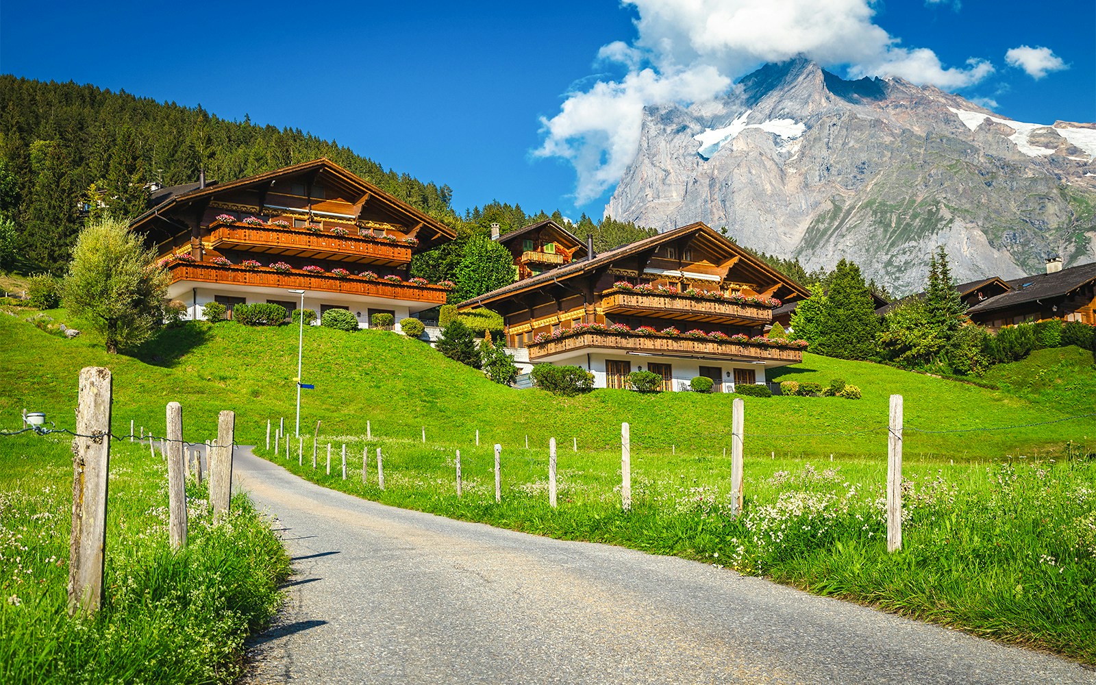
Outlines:
{"type": "Polygon", "coordinates": [[[819,322],[814,352],[844,359],[870,359],[877,355],[879,317],[864,283],[860,267],[841,260],[834,269],[830,292],[819,322]]]}

